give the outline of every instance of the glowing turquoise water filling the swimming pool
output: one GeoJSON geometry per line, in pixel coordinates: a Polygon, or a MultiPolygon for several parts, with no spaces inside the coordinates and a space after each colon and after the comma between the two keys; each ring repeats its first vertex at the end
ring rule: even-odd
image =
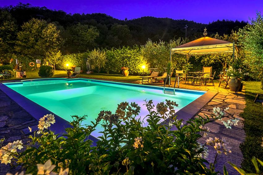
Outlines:
{"type": "MultiPolygon", "coordinates": [[[[87,79],[47,79],[5,85],[67,121],[72,120],[71,115],[88,115],[85,124],[95,121],[101,110],[115,112],[120,102],[136,102],[141,107],[138,117],[144,118],[148,114],[143,105],[145,99],[153,100],[155,105],[166,99],[173,100],[179,104],[175,109],[178,111],[204,94],[199,91],[179,90],[175,95],[170,95],[164,94],[160,87],[152,89],[148,86],[136,87],[127,83],[113,84],[110,81],[87,79]]],[[[102,128],[98,127],[92,135],[98,137],[101,130],[102,128]]]]}

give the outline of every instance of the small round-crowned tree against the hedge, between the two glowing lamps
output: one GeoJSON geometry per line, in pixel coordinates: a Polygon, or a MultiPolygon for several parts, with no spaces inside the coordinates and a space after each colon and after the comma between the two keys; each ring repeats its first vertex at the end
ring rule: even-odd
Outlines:
{"type": "Polygon", "coordinates": [[[91,61],[92,69],[98,69],[98,73],[100,73],[100,69],[105,66],[107,61],[106,59],[106,52],[100,51],[98,48],[97,50],[94,49],[89,53],[89,59],[91,61]]]}

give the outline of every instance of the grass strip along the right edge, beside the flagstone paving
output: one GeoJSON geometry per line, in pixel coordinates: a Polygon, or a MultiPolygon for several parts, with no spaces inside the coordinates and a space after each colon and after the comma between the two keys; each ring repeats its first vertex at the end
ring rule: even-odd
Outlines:
{"type": "MultiPolygon", "coordinates": [[[[246,107],[240,114],[244,118],[244,131],[246,133],[245,141],[240,144],[243,153],[242,168],[246,172],[255,172],[251,162],[253,156],[263,160],[263,148],[261,147],[261,138],[263,137],[263,106],[262,103],[254,103],[255,94],[263,93],[261,82],[249,81],[245,83],[246,107]]],[[[261,97],[262,98],[262,97],[261,97]]],[[[263,168],[260,168],[261,173],[263,168]]]]}

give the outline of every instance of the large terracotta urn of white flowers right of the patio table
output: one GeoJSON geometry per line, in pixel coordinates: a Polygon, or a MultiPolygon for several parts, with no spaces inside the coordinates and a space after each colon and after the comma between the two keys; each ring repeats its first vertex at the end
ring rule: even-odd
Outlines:
{"type": "Polygon", "coordinates": [[[240,81],[240,77],[242,77],[243,75],[248,75],[248,73],[242,73],[241,68],[233,69],[233,67],[230,67],[229,69],[226,69],[226,74],[230,77],[230,79],[228,80],[230,90],[235,91],[236,93],[240,91],[240,86],[242,84],[240,81]]]}

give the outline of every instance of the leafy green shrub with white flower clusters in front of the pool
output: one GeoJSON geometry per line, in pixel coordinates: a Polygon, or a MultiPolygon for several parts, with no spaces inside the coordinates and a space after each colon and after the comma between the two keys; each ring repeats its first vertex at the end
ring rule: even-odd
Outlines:
{"type": "Polygon", "coordinates": [[[136,119],[140,106],[128,102],[120,103],[115,113],[101,111],[91,125],[82,124],[87,116],[72,116],[72,127],[66,128],[63,135],[50,131],[54,115],[45,115],[39,120],[39,130],[29,136],[30,142],[22,146],[18,140],[2,146],[1,161],[22,165],[26,173],[32,174],[217,174],[213,163],[209,168],[205,165],[209,164],[205,159],[207,145],[213,146],[217,154],[228,154],[231,148],[224,139],[209,138],[205,144],[198,139],[209,132],[204,125],[222,119],[227,109],[214,108],[212,116],[183,123],[175,116],[178,104],[173,101],[155,106],[149,100],[145,106],[149,114],[144,119],[136,119]],[[104,131],[94,146],[89,135],[97,125],[104,131]],[[23,147],[25,151],[18,153],[16,149],[23,147]]]}

